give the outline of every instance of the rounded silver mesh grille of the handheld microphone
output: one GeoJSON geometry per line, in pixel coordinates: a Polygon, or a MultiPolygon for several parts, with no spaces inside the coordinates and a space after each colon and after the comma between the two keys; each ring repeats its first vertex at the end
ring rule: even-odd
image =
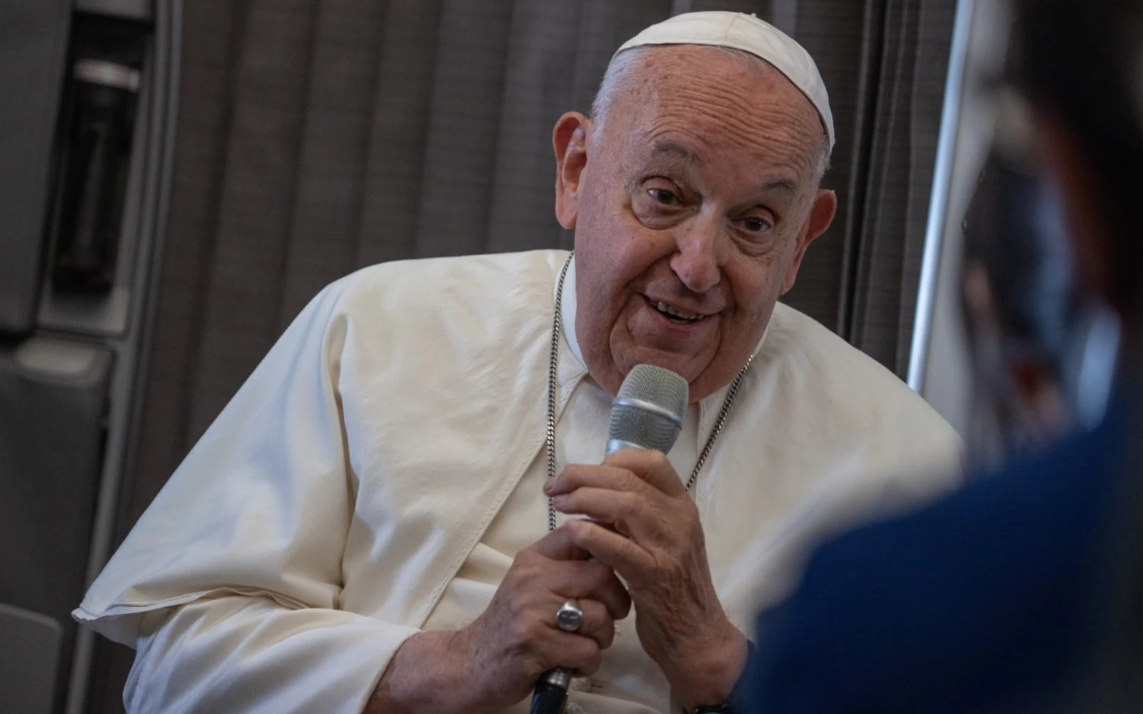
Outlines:
{"type": "Polygon", "coordinates": [[[682,428],[689,393],[687,380],[671,370],[654,364],[637,364],[628,372],[620,393],[615,395],[609,439],[666,454],[682,428]],[[622,402],[647,402],[676,418],[622,402]]]}

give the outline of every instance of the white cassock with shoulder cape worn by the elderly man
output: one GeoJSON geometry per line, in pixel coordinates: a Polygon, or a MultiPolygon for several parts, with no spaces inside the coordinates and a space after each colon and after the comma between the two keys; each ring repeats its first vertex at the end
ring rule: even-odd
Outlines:
{"type": "MultiPolygon", "coordinates": [[[[408,636],[485,609],[517,551],[547,531],[566,257],[377,265],[302,311],[74,612],[137,647],[129,711],[359,712],[408,636]]],[[[612,402],[581,359],[574,282],[557,468],[602,459],[612,402]]],[[[689,408],[669,455],[681,478],[725,395],[689,408]]],[[[750,632],[823,534],[951,488],[958,451],[896,377],[778,305],[694,489],[732,621],[750,632]]],[[[633,619],[618,627],[569,711],[678,711],[633,619]]]]}

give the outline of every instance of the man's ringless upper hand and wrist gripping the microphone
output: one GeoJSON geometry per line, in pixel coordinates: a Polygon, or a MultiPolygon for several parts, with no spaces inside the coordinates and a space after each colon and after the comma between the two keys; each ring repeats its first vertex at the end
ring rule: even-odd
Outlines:
{"type": "Polygon", "coordinates": [[[698,510],[668,462],[623,449],[599,466],[569,465],[544,491],[577,546],[610,565],[631,592],[644,650],[688,709],[724,701],[746,661],[745,636],[711,581],[698,510]]]}

